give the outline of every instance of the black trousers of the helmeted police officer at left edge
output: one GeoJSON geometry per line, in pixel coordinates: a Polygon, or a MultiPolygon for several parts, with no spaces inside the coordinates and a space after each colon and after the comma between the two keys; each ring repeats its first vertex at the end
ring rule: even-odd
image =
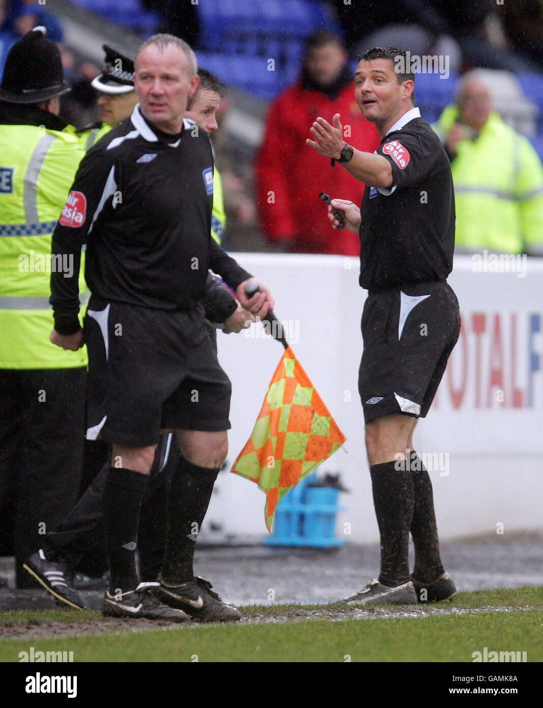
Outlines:
{"type": "Polygon", "coordinates": [[[0,516],[13,507],[3,552],[16,557],[18,588],[34,586],[23,563],[78,496],[85,385],[86,367],[0,370],[0,516]]]}

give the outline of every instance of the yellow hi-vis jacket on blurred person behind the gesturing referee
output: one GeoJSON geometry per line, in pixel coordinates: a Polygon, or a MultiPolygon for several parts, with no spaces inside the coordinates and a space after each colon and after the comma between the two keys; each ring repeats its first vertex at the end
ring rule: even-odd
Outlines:
{"type": "MultiPolygon", "coordinates": [[[[442,142],[458,117],[445,108],[432,127],[442,142]]],[[[459,251],[543,255],[543,167],[530,141],[491,113],[452,160],[459,251]]]]}

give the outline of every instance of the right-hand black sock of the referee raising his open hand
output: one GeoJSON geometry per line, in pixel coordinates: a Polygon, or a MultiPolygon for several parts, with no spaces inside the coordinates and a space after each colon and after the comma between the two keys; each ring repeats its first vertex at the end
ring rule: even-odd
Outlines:
{"type": "Polygon", "coordinates": [[[414,450],[411,451],[409,467],[415,490],[415,507],[411,520],[411,537],[415,547],[413,576],[421,583],[431,583],[445,572],[439,554],[432,483],[424,463],[414,450]]]}

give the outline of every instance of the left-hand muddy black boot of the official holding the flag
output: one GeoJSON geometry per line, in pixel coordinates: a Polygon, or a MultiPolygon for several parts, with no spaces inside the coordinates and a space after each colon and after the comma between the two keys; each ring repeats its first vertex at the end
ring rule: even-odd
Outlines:
{"type": "Polygon", "coordinates": [[[105,591],[102,600],[102,615],[104,617],[136,617],[144,619],[169,619],[170,622],[187,622],[190,619],[182,610],[163,603],[153,595],[158,583],[139,583],[136,590],[129,590],[122,595],[105,591]]]}

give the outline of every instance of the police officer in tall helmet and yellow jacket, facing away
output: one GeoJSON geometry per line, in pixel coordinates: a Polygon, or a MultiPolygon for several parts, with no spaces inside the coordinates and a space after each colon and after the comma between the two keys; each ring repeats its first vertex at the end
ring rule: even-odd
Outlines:
{"type": "Polygon", "coordinates": [[[84,154],[58,117],[66,91],[45,28],[11,47],[0,85],[0,506],[15,496],[18,587],[32,584],[23,561],[73,506],[81,478],[86,351],[49,342],[50,271],[79,277],[69,259],[51,258],[84,154]]]}

